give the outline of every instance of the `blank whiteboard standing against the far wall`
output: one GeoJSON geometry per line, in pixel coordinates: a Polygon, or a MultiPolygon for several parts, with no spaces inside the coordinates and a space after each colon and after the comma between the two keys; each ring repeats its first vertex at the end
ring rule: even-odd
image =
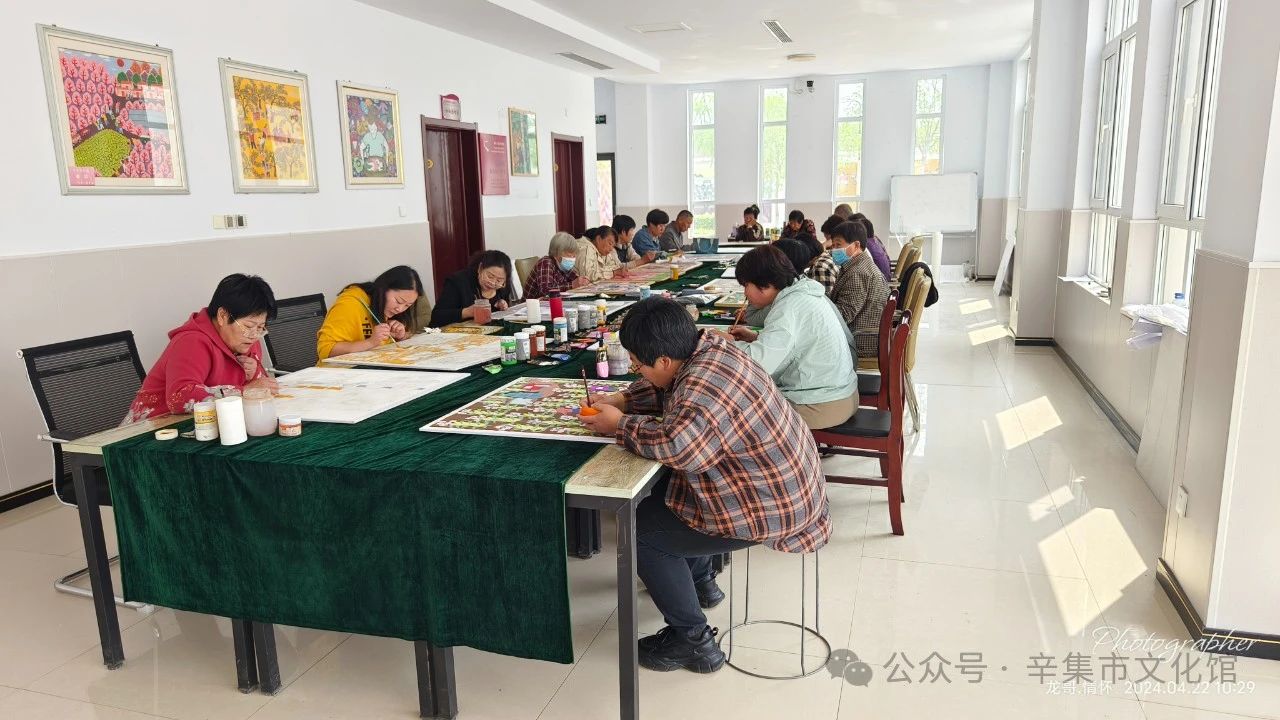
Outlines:
{"type": "Polygon", "coordinates": [[[891,232],[915,234],[978,229],[978,173],[893,176],[888,196],[891,232]]]}

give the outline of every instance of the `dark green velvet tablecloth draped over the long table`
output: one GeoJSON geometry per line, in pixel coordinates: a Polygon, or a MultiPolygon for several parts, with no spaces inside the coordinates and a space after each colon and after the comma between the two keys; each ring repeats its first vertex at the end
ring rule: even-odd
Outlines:
{"type": "Polygon", "coordinates": [[[563,487],[600,446],[419,428],[525,374],[577,377],[586,355],[476,369],[364,423],[307,423],[300,438],[108,446],[124,597],[572,662],[563,487]]]}

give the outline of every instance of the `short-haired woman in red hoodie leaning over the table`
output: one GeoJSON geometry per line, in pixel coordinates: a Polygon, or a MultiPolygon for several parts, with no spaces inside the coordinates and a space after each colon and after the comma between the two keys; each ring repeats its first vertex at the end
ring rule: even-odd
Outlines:
{"type": "Polygon", "coordinates": [[[262,369],[266,323],[275,319],[275,295],[257,275],[227,275],[209,305],[169,331],[169,345],[142,380],[123,424],[182,415],[214,397],[214,388],[276,389],[262,369]]]}

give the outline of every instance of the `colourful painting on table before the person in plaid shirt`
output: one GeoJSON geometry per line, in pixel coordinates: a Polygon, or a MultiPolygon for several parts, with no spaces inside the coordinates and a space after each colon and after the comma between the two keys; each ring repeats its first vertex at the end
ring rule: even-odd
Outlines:
{"type": "MultiPolygon", "coordinates": [[[[625,380],[588,380],[591,395],[614,393],[628,384],[625,380]]],[[[616,442],[612,437],[593,433],[579,421],[585,392],[579,379],[520,378],[420,429],[428,433],[616,442]]]]}

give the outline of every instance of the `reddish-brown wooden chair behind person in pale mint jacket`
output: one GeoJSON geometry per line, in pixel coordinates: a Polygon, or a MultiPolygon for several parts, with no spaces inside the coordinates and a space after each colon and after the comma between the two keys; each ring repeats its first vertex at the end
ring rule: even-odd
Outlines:
{"type": "Polygon", "coordinates": [[[904,319],[893,329],[890,347],[888,409],[877,410],[861,407],[854,416],[833,428],[813,430],[813,439],[826,445],[826,452],[835,455],[854,455],[876,457],[881,465],[881,478],[854,478],[846,475],[827,475],[828,483],[847,486],[872,486],[888,489],[888,519],[895,536],[902,530],[902,380],[905,372],[902,359],[906,355],[908,338],[911,336],[911,320],[904,319]]]}

